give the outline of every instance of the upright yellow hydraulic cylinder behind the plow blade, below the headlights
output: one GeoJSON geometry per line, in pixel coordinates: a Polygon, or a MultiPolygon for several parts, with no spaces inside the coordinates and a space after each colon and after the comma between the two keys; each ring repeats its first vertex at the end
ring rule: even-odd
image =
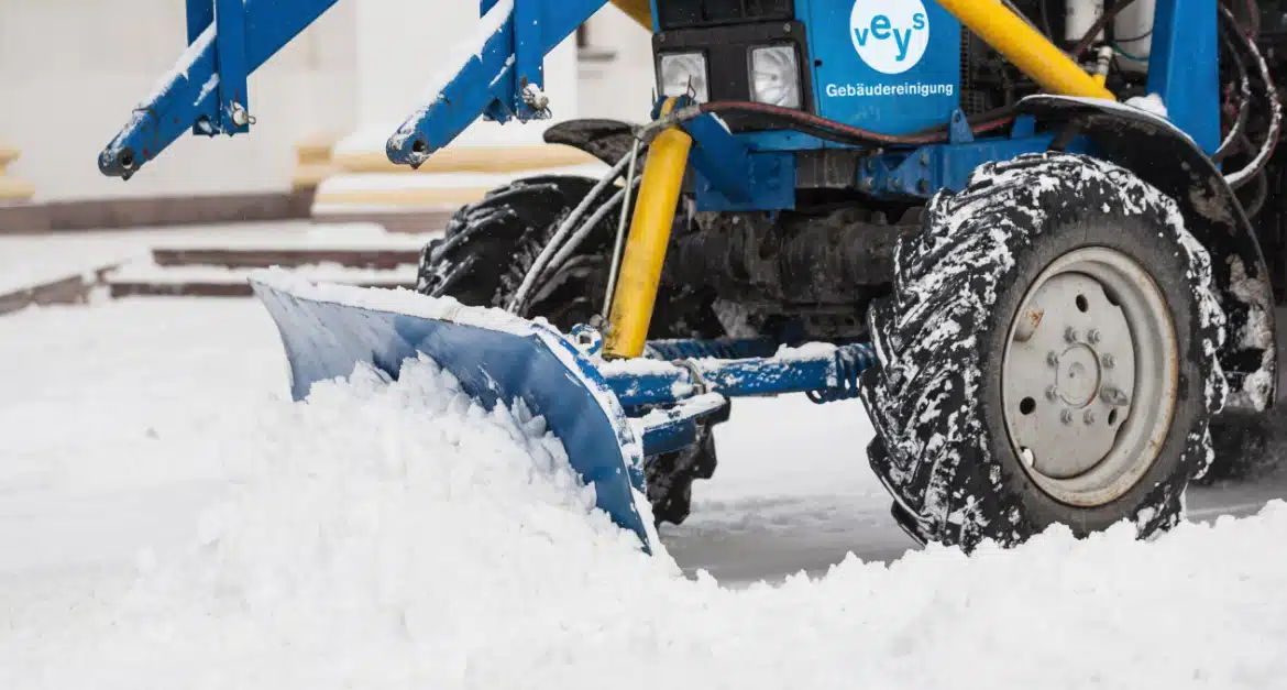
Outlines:
{"type": "MultiPolygon", "coordinates": [[[[669,103],[667,106],[664,109],[668,111],[669,103]]],[[[622,269],[613,292],[613,308],[607,315],[607,333],[604,339],[606,357],[631,358],[644,354],[691,148],[692,138],[680,127],[662,131],[649,147],[640,197],[631,219],[631,234],[625,241],[622,269]]]]}

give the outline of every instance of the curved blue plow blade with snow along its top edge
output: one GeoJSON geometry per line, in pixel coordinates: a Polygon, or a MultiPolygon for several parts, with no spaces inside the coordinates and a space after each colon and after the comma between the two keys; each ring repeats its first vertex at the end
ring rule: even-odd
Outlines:
{"type": "Polygon", "coordinates": [[[296,400],[362,363],[396,378],[407,358],[427,355],[488,409],[523,400],[543,416],[597,506],[649,550],[634,503],[641,440],[604,378],[557,332],[454,300],[313,284],[284,272],[260,272],[251,284],[281,331],[296,400]]]}

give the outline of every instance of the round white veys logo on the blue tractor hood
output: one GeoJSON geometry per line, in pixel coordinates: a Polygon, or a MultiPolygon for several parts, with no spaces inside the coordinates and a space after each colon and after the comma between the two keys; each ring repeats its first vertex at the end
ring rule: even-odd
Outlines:
{"type": "Polygon", "coordinates": [[[901,75],[925,55],[929,15],[920,0],[857,0],[849,13],[849,39],[873,70],[901,75]]]}

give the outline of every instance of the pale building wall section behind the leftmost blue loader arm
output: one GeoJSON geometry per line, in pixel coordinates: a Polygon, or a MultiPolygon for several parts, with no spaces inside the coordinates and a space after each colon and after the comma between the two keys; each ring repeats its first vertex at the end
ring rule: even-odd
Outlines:
{"type": "Polygon", "coordinates": [[[286,189],[293,144],[355,121],[353,1],[251,76],[250,135],[185,135],[130,182],[98,152],[183,51],[181,0],[0,0],[0,142],[37,200],[286,189]]]}

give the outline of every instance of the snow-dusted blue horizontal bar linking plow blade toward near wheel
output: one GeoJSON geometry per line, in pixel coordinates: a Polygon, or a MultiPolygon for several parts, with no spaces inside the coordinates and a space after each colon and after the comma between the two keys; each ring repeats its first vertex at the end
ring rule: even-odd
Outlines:
{"type": "Polygon", "coordinates": [[[676,403],[704,393],[726,398],[808,393],[813,402],[828,403],[853,398],[858,375],[874,363],[866,342],[811,344],[773,357],[613,362],[601,373],[627,408],[676,403]]]}

